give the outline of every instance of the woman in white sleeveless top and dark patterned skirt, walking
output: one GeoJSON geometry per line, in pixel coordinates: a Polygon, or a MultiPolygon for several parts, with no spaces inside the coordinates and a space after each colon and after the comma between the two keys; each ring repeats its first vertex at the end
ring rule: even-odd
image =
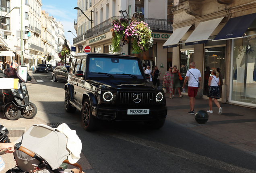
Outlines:
{"type": "Polygon", "coordinates": [[[208,88],[208,97],[209,97],[209,107],[210,111],[207,111],[208,113],[213,113],[213,101],[215,105],[219,108],[219,115],[222,113],[222,108],[219,105],[218,99],[219,99],[219,86],[221,84],[220,78],[219,78],[219,72],[217,70],[212,70],[211,75],[209,77],[209,88],[208,88]]]}

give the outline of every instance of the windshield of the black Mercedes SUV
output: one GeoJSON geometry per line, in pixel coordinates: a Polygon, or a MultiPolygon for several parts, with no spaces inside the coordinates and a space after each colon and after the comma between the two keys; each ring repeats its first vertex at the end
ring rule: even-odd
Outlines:
{"type": "Polygon", "coordinates": [[[139,62],[134,59],[122,59],[122,58],[90,58],[89,60],[89,72],[91,73],[108,73],[122,75],[122,77],[131,77],[132,74],[136,76],[142,76],[139,62]]]}

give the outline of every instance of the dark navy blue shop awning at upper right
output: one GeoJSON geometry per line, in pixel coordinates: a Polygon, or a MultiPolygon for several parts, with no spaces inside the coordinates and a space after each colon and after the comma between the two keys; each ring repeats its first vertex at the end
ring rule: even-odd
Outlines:
{"type": "Polygon", "coordinates": [[[242,38],[255,18],[256,13],[229,19],[213,41],[242,38]]]}

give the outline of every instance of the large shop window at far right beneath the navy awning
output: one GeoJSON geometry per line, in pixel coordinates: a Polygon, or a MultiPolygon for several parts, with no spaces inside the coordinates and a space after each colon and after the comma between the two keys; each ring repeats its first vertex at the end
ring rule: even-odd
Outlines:
{"type": "MultiPolygon", "coordinates": [[[[250,28],[253,28],[250,26],[250,28]]],[[[246,38],[234,39],[231,101],[256,104],[256,31],[246,31],[246,38]],[[252,35],[252,36],[249,36],[252,35]]]]}

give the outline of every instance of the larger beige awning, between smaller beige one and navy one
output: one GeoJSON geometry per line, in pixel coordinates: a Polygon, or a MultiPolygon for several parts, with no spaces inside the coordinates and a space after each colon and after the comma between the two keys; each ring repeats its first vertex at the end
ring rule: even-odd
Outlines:
{"type": "Polygon", "coordinates": [[[223,18],[224,17],[208,20],[205,22],[200,22],[200,24],[198,24],[196,29],[185,41],[185,46],[206,43],[208,41],[209,36],[211,36],[213,31],[217,28],[217,26],[219,25],[223,18]]]}

